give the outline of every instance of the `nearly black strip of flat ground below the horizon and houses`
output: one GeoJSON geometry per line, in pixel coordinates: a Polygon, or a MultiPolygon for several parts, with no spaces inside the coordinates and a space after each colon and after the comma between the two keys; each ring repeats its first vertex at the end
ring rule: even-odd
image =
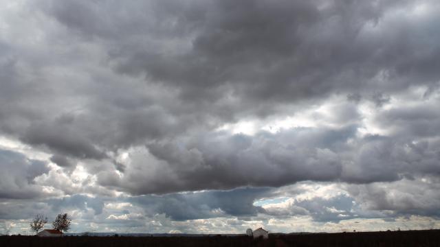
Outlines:
{"type": "Polygon", "coordinates": [[[271,234],[269,239],[247,236],[213,237],[36,237],[0,236],[1,247],[67,246],[440,246],[440,230],[370,233],[271,234]]]}

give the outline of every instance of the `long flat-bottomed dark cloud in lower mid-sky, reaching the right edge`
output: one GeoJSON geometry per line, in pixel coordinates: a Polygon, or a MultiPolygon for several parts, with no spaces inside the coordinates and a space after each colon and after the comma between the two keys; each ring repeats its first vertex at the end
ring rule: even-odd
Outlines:
{"type": "Polygon", "coordinates": [[[217,133],[151,143],[148,150],[153,157],[142,152],[133,155],[124,178],[100,174],[98,181],[143,194],[279,187],[303,180],[373,183],[440,172],[438,142],[370,135],[353,139],[355,130],[355,126],[294,128],[253,137],[217,133]]]}

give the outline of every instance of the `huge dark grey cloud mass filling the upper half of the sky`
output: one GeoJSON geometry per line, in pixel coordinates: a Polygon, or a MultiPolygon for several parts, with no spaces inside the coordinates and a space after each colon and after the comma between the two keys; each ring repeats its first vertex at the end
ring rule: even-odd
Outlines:
{"type": "Polygon", "coordinates": [[[333,93],[360,93],[382,105],[388,95],[438,78],[434,14],[417,21],[400,17],[399,11],[415,8],[408,1],[38,1],[31,6],[43,10],[30,12],[32,21],[41,21],[34,15],[44,13],[60,24],[43,42],[53,35],[63,49],[83,46],[72,48],[79,52],[67,49],[72,66],[61,53],[39,60],[37,67],[34,56],[47,47],[20,54],[9,44],[2,84],[8,95],[16,95],[13,101],[27,104],[2,108],[0,115],[10,118],[1,129],[78,158],[105,158],[107,150],[212,129],[239,117],[283,115],[282,105],[322,102],[333,93]],[[395,21],[399,17],[403,20],[395,21]],[[84,67],[78,61],[87,59],[87,52],[97,52],[101,63],[84,67]],[[42,72],[60,66],[78,75],[57,82],[42,72]],[[145,80],[131,82],[102,66],[133,78],[140,73],[145,80]],[[36,71],[25,78],[19,72],[28,67],[36,71]],[[34,80],[41,82],[38,87],[34,80]],[[40,100],[44,90],[50,102],[40,100]],[[62,106],[72,110],[68,99],[83,109],[60,125],[62,106]],[[48,106],[52,111],[42,110],[48,106]]]}

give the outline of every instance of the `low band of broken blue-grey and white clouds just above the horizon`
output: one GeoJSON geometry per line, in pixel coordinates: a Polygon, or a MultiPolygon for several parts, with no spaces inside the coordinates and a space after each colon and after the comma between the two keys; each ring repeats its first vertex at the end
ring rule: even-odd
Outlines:
{"type": "MultiPolygon", "coordinates": [[[[331,193],[323,195],[315,194],[314,188],[331,184],[324,183],[318,187],[316,185],[306,182],[280,189],[241,188],[230,191],[199,191],[118,198],[75,195],[24,202],[9,200],[8,204],[0,209],[0,215],[2,219],[19,220],[30,219],[36,212],[50,218],[59,212],[71,212],[74,221],[79,223],[74,226],[76,231],[89,231],[92,225],[96,227],[96,224],[102,224],[107,228],[142,228],[143,231],[148,232],[161,232],[171,226],[181,231],[188,231],[185,228],[200,223],[191,222],[197,219],[205,219],[215,229],[225,226],[229,229],[238,227],[239,231],[243,231],[249,224],[253,224],[252,222],[266,225],[270,221],[298,220],[292,217],[310,217],[316,223],[332,222],[333,224],[338,222],[342,224],[344,220],[355,218],[382,218],[386,221],[395,221],[398,217],[410,215],[423,215],[433,219],[439,217],[439,198],[436,193],[438,186],[432,177],[373,185],[346,184],[339,189],[333,187],[336,191],[329,191],[331,193]],[[298,189],[303,186],[311,187],[307,190],[298,189]],[[292,203],[266,207],[265,203],[268,199],[270,201],[270,198],[280,196],[279,191],[290,191],[292,197],[289,197],[289,200],[292,203]],[[303,193],[310,193],[314,197],[302,198],[303,193]],[[411,196],[413,193],[417,194],[417,197],[413,198],[411,196]],[[261,203],[261,200],[265,202],[263,203],[265,206],[254,206],[254,202],[261,203]],[[220,222],[214,224],[213,222],[216,221],[220,222]]],[[[340,186],[336,183],[334,185],[340,186]]],[[[283,193],[283,196],[287,194],[283,193]]],[[[277,227],[272,224],[270,227],[277,227]]],[[[402,226],[415,227],[410,221],[406,224],[402,226]]]]}

